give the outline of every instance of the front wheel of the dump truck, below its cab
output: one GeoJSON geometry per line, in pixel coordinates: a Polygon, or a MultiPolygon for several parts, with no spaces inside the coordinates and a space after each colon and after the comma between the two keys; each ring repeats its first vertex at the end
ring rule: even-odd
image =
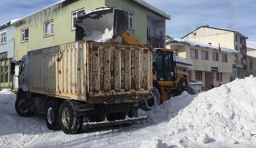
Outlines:
{"type": "Polygon", "coordinates": [[[15,101],[15,110],[16,112],[23,117],[30,117],[35,114],[35,112],[30,110],[30,104],[26,104],[25,96],[20,95],[15,101]],[[27,107],[26,107],[27,106],[27,107]]]}

